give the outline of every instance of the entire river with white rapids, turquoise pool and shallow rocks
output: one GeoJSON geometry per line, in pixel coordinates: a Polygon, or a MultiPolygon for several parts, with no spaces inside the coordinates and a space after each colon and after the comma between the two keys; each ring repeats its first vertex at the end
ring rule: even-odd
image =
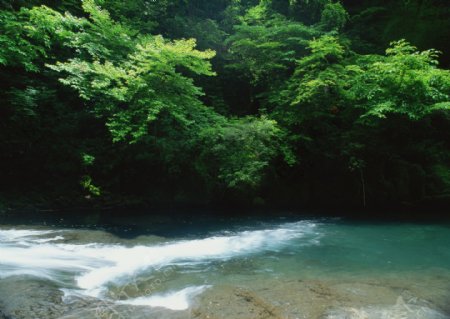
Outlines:
{"type": "Polygon", "coordinates": [[[0,318],[450,318],[449,224],[36,220],[0,225],[0,318]]]}

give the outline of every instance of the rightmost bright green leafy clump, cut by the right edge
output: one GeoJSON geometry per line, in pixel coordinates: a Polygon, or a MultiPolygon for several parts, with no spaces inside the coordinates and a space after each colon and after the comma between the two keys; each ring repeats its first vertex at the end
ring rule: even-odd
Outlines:
{"type": "MultiPolygon", "coordinates": [[[[392,43],[386,57],[364,66],[350,93],[367,115],[389,113],[420,119],[450,100],[450,72],[436,68],[437,51],[417,51],[405,41],[392,43]]],[[[448,107],[447,107],[448,109],[448,107]]]]}

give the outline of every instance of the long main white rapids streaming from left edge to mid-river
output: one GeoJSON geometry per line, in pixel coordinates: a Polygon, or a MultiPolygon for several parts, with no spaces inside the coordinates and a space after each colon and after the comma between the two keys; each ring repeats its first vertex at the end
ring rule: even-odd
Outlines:
{"type": "MultiPolygon", "coordinates": [[[[85,294],[99,297],[108,283],[118,282],[143,270],[278,250],[290,240],[313,232],[314,227],[313,223],[297,222],[274,229],[134,247],[54,243],[62,239],[64,233],[55,237],[53,231],[0,230],[0,270],[2,273],[8,270],[44,278],[52,273],[56,277],[58,272],[64,271],[72,274],[70,281],[75,279],[85,294]],[[26,245],[23,245],[24,241],[26,245]]],[[[181,298],[181,295],[176,296],[181,298]]],[[[151,302],[162,300],[152,298],[151,302]]]]}

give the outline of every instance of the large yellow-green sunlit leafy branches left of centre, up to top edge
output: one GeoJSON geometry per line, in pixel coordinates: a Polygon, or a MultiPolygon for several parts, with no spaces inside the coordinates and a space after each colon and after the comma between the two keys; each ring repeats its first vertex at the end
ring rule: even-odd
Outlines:
{"type": "Polygon", "coordinates": [[[198,100],[202,92],[179,68],[214,75],[207,62],[214,52],[196,50],[192,39],[133,39],[127,28],[116,25],[93,1],[85,1],[83,7],[92,21],[83,21],[84,27],[68,40],[79,49],[78,54],[49,65],[62,74],[61,82],[77,90],[95,114],[106,119],[114,141],[145,136],[148,123],[155,121],[162,109],[187,125],[190,113],[203,108],[198,100]],[[119,46],[125,48],[120,50],[122,54],[128,54],[109,59],[119,46]]]}

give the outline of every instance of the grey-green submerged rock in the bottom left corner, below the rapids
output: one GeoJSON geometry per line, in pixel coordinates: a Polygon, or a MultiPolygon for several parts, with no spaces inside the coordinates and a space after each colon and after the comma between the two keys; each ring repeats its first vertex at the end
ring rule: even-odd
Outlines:
{"type": "Polygon", "coordinates": [[[190,319],[189,310],[120,305],[68,296],[51,281],[32,276],[0,280],[0,319],[190,319]]]}

